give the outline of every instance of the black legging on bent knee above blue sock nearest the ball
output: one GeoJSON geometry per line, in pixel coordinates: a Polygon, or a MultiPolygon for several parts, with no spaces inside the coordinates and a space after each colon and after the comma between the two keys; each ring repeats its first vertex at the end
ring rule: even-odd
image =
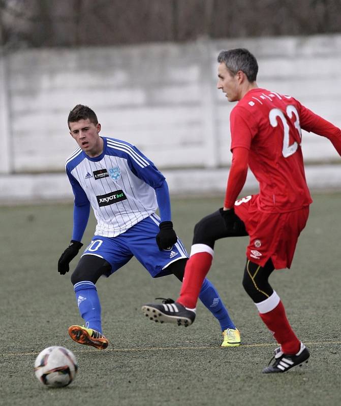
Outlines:
{"type": "Polygon", "coordinates": [[[90,281],[95,284],[100,276],[108,275],[110,271],[111,265],[104,258],[84,255],[71,275],[71,283],[75,285],[78,282],[90,281]]]}

